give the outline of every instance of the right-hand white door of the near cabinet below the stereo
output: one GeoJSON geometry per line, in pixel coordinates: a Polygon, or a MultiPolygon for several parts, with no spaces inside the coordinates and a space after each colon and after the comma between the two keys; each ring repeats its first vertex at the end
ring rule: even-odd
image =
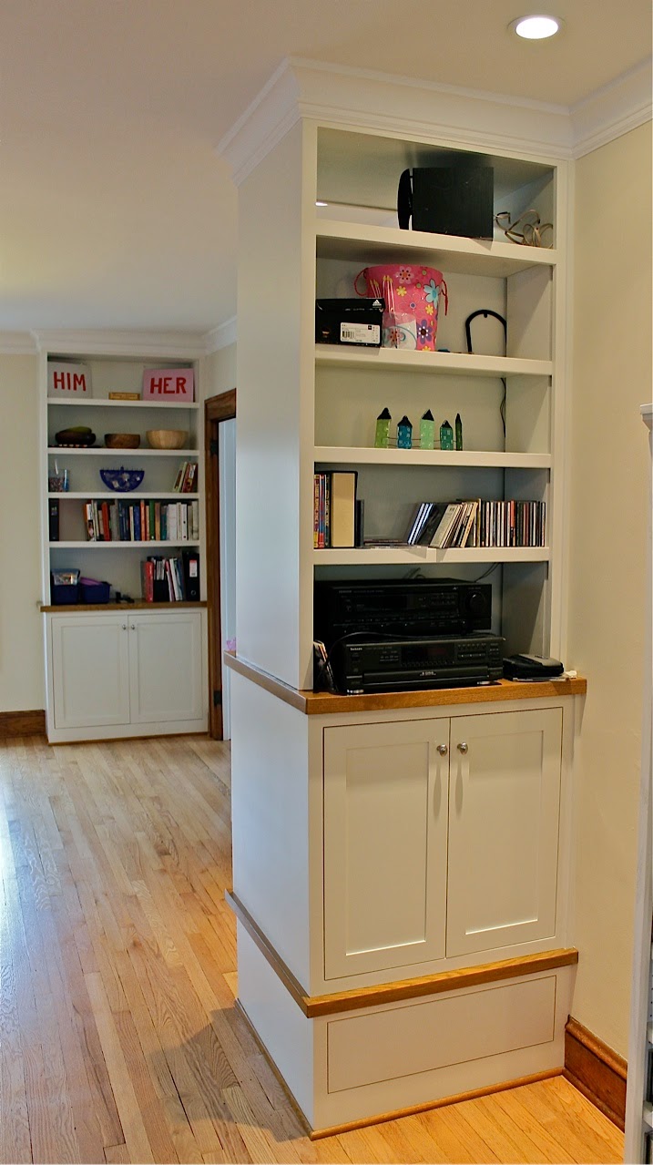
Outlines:
{"type": "Polygon", "coordinates": [[[447,955],[555,933],[562,709],[454,716],[447,955]]]}

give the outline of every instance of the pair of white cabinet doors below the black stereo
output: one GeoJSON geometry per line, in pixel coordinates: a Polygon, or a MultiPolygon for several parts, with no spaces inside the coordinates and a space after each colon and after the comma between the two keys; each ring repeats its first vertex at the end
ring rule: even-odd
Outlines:
{"type": "Polygon", "coordinates": [[[561,708],[325,729],[325,977],[555,934],[561,708]]]}

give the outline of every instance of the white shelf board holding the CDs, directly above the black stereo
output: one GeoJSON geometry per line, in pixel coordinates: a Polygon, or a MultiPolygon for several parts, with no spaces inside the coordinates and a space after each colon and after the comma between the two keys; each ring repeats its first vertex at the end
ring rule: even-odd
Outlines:
{"type": "Polygon", "coordinates": [[[315,566],[546,563],[548,559],[548,546],[470,546],[462,550],[433,550],[431,546],[362,546],[352,550],[313,550],[315,566]]]}

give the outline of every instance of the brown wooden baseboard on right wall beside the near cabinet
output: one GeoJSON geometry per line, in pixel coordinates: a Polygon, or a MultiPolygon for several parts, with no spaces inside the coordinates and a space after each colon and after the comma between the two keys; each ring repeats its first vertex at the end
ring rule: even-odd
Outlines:
{"type": "Polygon", "coordinates": [[[618,1129],[626,1116],[626,1061],[569,1016],[565,1028],[565,1079],[618,1129]]]}

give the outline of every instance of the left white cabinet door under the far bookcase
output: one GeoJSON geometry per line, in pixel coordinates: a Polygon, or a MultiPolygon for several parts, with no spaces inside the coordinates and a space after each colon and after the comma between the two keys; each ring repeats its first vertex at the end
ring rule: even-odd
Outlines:
{"type": "Polygon", "coordinates": [[[56,728],[129,723],[127,623],[119,615],[54,615],[56,728]]]}

